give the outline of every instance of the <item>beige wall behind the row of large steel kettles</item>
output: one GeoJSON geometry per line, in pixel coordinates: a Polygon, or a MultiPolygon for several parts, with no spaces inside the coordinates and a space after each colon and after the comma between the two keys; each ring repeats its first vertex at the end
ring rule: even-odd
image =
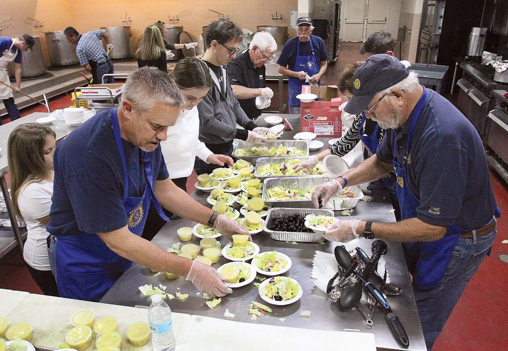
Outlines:
{"type": "MultiPolygon", "coordinates": [[[[217,20],[218,15],[207,10],[213,10],[224,15],[240,27],[252,31],[257,30],[258,25],[288,25],[290,24],[291,10],[298,9],[298,0],[2,0],[3,21],[11,16],[14,20],[5,22],[0,31],[0,36],[15,36],[23,33],[41,35],[41,45],[46,51],[44,38],[45,31],[62,30],[67,26],[75,27],[80,33],[88,30],[96,30],[108,25],[123,25],[121,18],[128,12],[133,33],[133,48],[137,47],[137,41],[143,34],[145,27],[157,20],[166,24],[183,25],[183,30],[197,40],[202,32],[202,27],[211,21],[217,20]],[[178,21],[169,21],[171,16],[180,11],[189,9],[178,21]],[[271,15],[282,14],[282,19],[273,20],[271,15]],[[34,28],[32,21],[24,20],[24,17],[32,17],[44,22],[43,27],[34,28]]],[[[289,36],[295,36],[294,30],[289,29],[289,36]]],[[[46,63],[49,65],[47,52],[46,63]]]]}

